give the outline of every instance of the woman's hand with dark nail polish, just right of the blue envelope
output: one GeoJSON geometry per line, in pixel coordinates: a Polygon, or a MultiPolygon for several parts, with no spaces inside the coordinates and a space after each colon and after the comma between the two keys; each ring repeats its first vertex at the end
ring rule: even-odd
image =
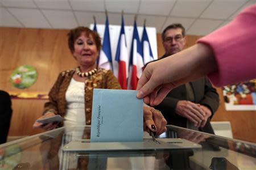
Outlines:
{"type": "Polygon", "coordinates": [[[166,128],[167,121],[163,117],[163,114],[160,111],[152,107],[144,106],[143,117],[144,117],[144,122],[143,122],[144,131],[148,131],[148,129],[150,129],[154,131],[156,135],[160,135],[167,130],[166,128]]]}

